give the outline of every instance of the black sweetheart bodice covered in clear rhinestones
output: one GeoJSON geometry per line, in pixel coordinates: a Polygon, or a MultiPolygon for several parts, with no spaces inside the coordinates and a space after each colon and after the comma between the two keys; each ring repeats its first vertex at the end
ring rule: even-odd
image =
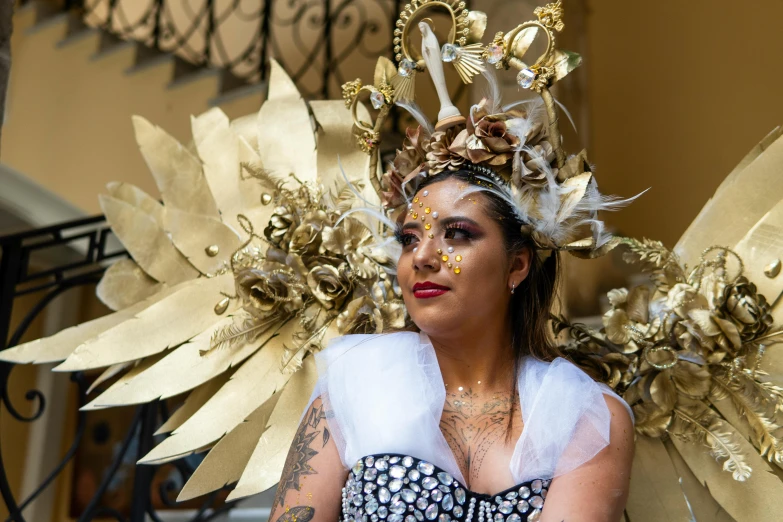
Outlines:
{"type": "Polygon", "coordinates": [[[534,522],[548,487],[548,480],[532,480],[485,495],[421,459],[370,455],[348,474],[342,517],[344,522],[534,522]]]}

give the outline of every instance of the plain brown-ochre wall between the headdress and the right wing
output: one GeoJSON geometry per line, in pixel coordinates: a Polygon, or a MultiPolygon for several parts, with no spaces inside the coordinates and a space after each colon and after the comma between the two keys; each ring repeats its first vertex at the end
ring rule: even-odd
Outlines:
{"type": "Polygon", "coordinates": [[[783,124],[783,2],[587,4],[590,158],[605,192],[652,187],[610,222],[674,246],[724,176],[783,124]]]}

